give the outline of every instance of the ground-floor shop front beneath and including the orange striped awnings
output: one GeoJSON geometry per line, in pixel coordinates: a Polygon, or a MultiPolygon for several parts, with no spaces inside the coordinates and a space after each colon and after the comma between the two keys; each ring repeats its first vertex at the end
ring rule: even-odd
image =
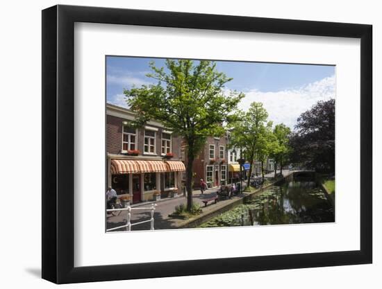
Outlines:
{"type": "Polygon", "coordinates": [[[133,204],[146,202],[168,191],[180,193],[183,171],[182,161],[111,159],[109,185],[119,198],[133,204]]]}

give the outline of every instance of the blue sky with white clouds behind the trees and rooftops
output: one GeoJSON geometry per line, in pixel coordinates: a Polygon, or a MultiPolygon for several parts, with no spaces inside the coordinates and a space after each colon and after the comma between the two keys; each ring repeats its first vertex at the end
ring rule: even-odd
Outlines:
{"type": "MultiPolygon", "coordinates": [[[[149,62],[163,67],[164,59],[108,56],[106,58],[106,98],[108,103],[126,106],[123,89],[150,82],[149,62]]],[[[335,98],[335,67],[307,64],[217,61],[217,70],[233,78],[225,89],[244,92],[239,107],[245,110],[261,101],[274,123],[292,128],[302,112],[318,100],[335,98]]]]}

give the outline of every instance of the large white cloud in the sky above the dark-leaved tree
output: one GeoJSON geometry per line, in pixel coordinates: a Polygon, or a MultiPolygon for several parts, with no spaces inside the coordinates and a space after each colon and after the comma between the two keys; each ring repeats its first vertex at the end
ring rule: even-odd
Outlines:
{"type": "Polygon", "coordinates": [[[282,91],[263,92],[251,89],[245,92],[239,107],[247,110],[254,101],[263,103],[269,120],[274,124],[284,123],[293,129],[302,112],[309,110],[318,100],[331,98],[335,98],[335,76],[282,91]]]}

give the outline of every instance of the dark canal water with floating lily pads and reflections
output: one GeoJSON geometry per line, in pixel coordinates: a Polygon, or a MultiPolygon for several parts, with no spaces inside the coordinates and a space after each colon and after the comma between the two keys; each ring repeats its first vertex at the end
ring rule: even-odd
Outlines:
{"type": "Polygon", "coordinates": [[[315,182],[282,182],[244,204],[205,222],[201,227],[281,225],[334,222],[334,211],[315,182]]]}

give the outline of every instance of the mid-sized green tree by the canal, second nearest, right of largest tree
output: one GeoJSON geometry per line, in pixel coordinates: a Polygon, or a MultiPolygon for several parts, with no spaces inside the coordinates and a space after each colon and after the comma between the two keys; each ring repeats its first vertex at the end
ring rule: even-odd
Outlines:
{"type": "MultiPolygon", "coordinates": [[[[252,174],[252,165],[256,152],[265,142],[265,130],[267,127],[267,110],[263,103],[251,103],[247,112],[239,111],[235,120],[229,126],[231,128],[231,146],[241,148],[240,154],[249,161],[249,175],[252,174]]],[[[250,179],[248,178],[248,186],[250,179]]]]}

